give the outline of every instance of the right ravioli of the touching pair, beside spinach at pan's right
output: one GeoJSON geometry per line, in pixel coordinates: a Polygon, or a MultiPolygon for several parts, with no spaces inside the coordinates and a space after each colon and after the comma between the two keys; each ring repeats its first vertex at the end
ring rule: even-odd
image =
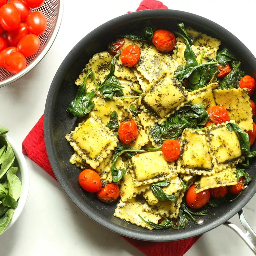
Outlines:
{"type": "Polygon", "coordinates": [[[226,123],[205,128],[204,132],[216,172],[244,160],[237,134],[228,130],[226,123]]]}

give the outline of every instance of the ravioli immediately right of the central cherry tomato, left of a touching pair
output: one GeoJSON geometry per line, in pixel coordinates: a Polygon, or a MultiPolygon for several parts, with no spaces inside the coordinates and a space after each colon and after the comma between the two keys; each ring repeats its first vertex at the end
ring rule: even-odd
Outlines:
{"type": "Polygon", "coordinates": [[[185,129],[180,145],[181,154],[177,161],[178,173],[192,175],[213,175],[215,173],[203,131],[185,129]]]}

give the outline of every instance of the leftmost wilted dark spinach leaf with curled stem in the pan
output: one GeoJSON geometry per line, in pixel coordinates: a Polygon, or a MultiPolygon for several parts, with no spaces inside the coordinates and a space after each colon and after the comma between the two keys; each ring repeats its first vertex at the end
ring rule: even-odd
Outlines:
{"type": "Polygon", "coordinates": [[[86,92],[86,80],[89,75],[93,75],[95,80],[94,72],[89,72],[85,76],[83,84],[79,86],[75,98],[70,102],[68,106],[68,112],[77,117],[85,116],[94,107],[94,102],[91,99],[95,96],[95,92],[91,91],[88,94],[86,92]]]}

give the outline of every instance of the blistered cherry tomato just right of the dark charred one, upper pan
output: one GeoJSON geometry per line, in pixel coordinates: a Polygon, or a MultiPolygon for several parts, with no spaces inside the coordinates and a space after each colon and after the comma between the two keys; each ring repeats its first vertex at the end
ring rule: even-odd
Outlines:
{"type": "Polygon", "coordinates": [[[126,46],[121,53],[121,60],[124,66],[135,66],[140,60],[140,47],[134,44],[126,46]]]}

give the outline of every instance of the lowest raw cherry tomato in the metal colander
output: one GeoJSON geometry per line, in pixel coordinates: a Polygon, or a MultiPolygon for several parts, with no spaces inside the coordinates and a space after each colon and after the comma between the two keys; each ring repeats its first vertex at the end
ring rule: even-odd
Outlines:
{"type": "Polygon", "coordinates": [[[12,52],[4,59],[4,67],[11,73],[16,74],[23,70],[27,65],[26,58],[23,54],[12,52]]]}

